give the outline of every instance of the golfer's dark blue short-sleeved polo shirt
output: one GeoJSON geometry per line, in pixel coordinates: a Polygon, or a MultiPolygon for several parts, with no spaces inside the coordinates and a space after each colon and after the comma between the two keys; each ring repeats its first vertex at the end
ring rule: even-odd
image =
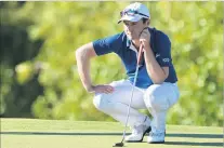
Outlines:
{"type": "MultiPolygon", "coordinates": [[[[161,67],[169,67],[169,76],[164,82],[175,83],[177,78],[172,64],[171,42],[168,36],[156,28],[148,28],[148,30],[150,32],[150,48],[156,60],[161,67]]],[[[98,56],[111,52],[116,53],[121,58],[126,67],[128,79],[133,83],[137,62],[137,51],[124,32],[95,40],[93,41],[93,48],[98,56]]],[[[143,56],[136,79],[136,86],[147,89],[151,84],[153,81],[147,73],[143,56]]]]}

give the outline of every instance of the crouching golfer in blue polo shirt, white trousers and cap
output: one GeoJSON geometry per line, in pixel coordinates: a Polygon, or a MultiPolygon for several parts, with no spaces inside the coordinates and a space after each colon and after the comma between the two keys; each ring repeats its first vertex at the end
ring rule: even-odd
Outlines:
{"type": "Polygon", "coordinates": [[[142,142],[149,132],[147,143],[164,143],[167,112],[180,96],[171,42],[166,33],[148,27],[150,14],[146,5],[131,3],[120,16],[118,23],[123,24],[122,32],[87,43],[76,51],[81,82],[88,92],[94,93],[93,104],[100,111],[124,124],[142,44],[144,52],[128,120],[132,134],[124,140],[142,142]],[[116,53],[121,58],[128,79],[93,85],[90,59],[108,53],[116,53]],[[139,109],[147,109],[153,119],[139,109]]]}

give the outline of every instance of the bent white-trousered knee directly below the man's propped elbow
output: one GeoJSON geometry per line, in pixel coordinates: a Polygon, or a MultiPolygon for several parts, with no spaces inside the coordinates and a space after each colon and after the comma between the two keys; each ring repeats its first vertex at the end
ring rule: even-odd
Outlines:
{"type": "Polygon", "coordinates": [[[169,108],[168,98],[157,84],[154,84],[146,90],[144,102],[147,108],[154,108],[158,111],[164,111],[169,108]]]}

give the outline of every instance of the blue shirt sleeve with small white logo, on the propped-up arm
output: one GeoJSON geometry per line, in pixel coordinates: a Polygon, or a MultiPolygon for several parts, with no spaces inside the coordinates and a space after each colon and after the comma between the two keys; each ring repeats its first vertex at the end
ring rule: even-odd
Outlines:
{"type": "Polygon", "coordinates": [[[172,65],[171,42],[167,35],[159,32],[156,37],[156,59],[161,67],[172,65]]]}

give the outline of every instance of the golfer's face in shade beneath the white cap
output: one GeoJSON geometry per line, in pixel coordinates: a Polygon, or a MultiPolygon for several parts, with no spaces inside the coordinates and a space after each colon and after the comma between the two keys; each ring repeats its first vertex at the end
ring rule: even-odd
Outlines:
{"type": "Polygon", "coordinates": [[[140,33],[145,27],[147,23],[143,24],[142,19],[139,22],[123,21],[123,29],[130,40],[140,39],[140,33]]]}

